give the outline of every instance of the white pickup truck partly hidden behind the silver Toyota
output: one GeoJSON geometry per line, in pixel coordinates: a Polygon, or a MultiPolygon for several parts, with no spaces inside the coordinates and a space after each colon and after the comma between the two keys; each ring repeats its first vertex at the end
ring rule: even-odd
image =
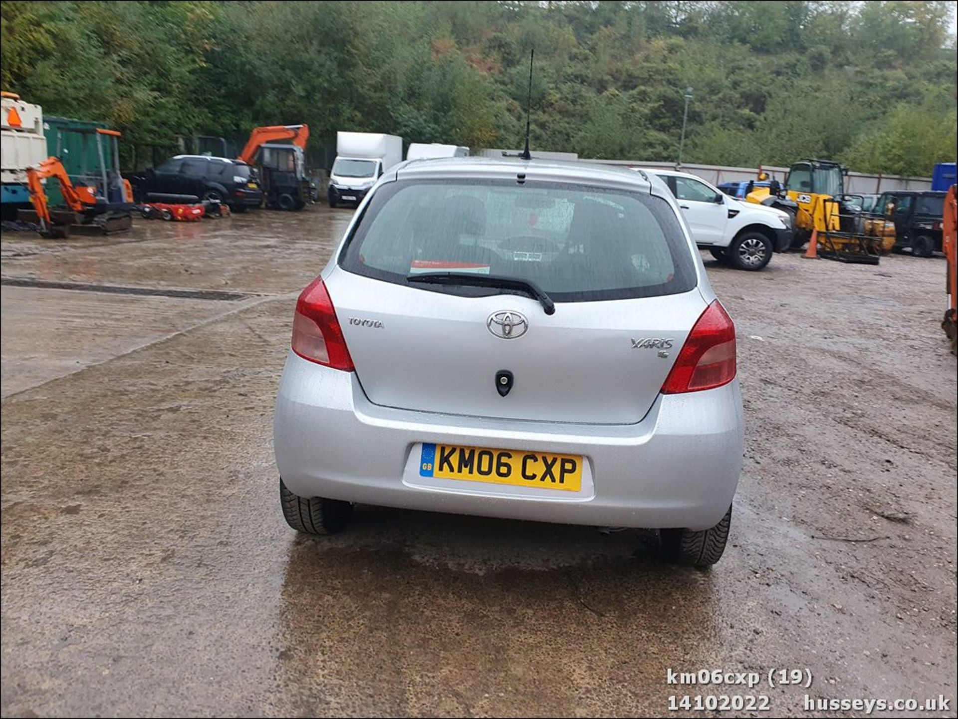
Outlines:
{"type": "Polygon", "coordinates": [[[642,171],[657,175],[669,186],[696,244],[720,262],[740,270],[761,270],[774,253],[791,246],[793,228],[788,213],[741,202],[688,172],[642,171]]]}

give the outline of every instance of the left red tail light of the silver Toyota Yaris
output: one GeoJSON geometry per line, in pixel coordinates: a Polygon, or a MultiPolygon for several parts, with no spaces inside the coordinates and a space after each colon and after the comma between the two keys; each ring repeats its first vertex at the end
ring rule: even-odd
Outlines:
{"type": "Polygon", "coordinates": [[[333,370],[354,370],[343,329],[336,319],[336,309],[322,278],[312,281],[296,301],[292,348],[310,362],[333,370]]]}

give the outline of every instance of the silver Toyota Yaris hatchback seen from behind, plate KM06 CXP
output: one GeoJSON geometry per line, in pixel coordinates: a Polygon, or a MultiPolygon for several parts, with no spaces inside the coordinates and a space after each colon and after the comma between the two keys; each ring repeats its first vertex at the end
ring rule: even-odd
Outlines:
{"type": "Polygon", "coordinates": [[[276,405],[286,521],[353,503],[660,528],[719,559],[735,326],[661,180],[517,159],[385,174],[300,295],[276,405]]]}

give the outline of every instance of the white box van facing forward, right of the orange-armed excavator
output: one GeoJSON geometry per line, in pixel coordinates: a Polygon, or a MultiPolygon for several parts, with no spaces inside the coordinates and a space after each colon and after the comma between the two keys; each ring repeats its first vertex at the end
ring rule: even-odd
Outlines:
{"type": "Polygon", "coordinates": [[[386,170],[402,162],[402,138],[377,132],[337,132],[330,172],[330,207],[358,205],[386,170]]]}

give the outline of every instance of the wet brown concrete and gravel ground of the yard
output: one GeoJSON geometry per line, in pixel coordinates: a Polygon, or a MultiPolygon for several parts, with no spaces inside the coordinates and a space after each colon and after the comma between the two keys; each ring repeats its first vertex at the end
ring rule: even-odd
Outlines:
{"type": "Polygon", "coordinates": [[[285,526],[274,393],[350,216],[4,234],[4,716],[662,715],[696,694],[771,715],[941,694],[955,716],[942,258],[706,261],[747,426],[732,544],[698,572],[650,532],[373,506],[331,539],[285,526]]]}

